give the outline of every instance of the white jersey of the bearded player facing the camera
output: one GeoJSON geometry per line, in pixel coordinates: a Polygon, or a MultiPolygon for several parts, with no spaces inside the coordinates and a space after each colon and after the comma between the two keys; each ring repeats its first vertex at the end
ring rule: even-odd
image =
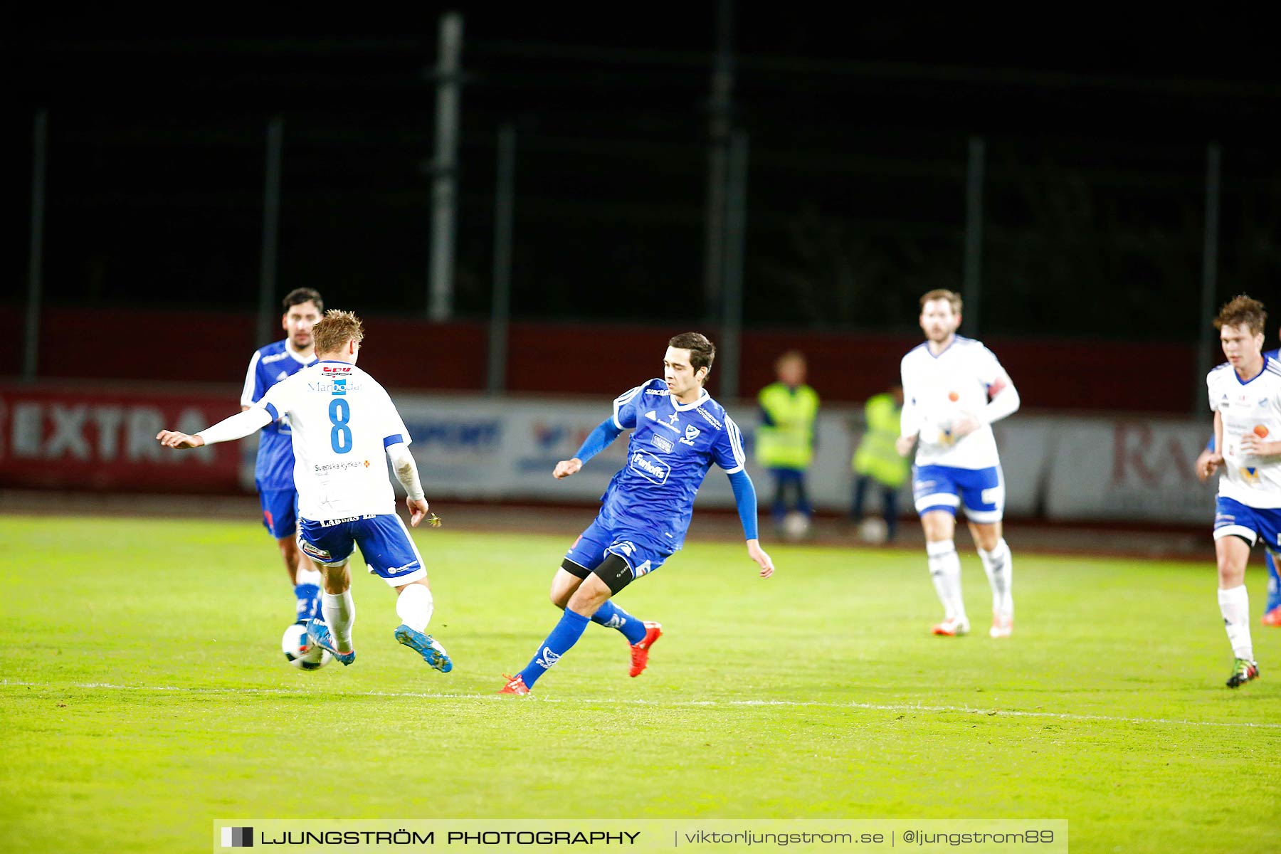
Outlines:
{"type": "Polygon", "coordinates": [[[1008,383],[990,350],[972,338],[957,335],[935,356],[927,343],[911,350],[901,364],[903,379],[902,435],[920,435],[916,465],[954,469],[990,469],[1000,465],[991,425],[979,419],[979,429],[956,439],[952,425],[976,416],[1008,383]]]}

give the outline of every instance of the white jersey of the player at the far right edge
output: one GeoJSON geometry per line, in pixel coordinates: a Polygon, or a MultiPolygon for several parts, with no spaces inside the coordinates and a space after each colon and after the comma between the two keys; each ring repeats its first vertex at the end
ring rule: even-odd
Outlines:
{"type": "Polygon", "coordinates": [[[1205,388],[1209,408],[1223,420],[1218,494],[1246,507],[1281,507],[1281,455],[1262,457],[1240,447],[1248,434],[1281,439],[1281,364],[1264,356],[1263,370],[1243,380],[1225,362],[1205,376],[1205,388]]]}

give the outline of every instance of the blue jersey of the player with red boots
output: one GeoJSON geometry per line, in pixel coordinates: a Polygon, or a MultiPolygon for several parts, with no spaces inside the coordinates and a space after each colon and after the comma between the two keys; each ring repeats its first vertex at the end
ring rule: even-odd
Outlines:
{"type": "Polygon", "coordinates": [[[707,392],[676,403],[661,379],[614,401],[614,425],[632,428],[632,439],[626,463],[601,495],[600,519],[680,548],[711,465],[726,474],[743,470],[743,434],[707,392]]]}

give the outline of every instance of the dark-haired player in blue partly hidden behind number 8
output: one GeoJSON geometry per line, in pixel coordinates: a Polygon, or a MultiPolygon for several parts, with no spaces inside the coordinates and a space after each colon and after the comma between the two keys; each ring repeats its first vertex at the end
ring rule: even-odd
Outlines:
{"type": "MultiPolygon", "coordinates": [[[[281,326],[286,337],[254,351],[241,392],[242,412],[263,399],[269,388],[316,360],[311,328],[324,312],[324,300],[313,288],[297,288],[290,291],[283,303],[281,326]]],[[[275,538],[284,572],[293,585],[297,621],[306,622],[320,613],[320,574],[298,551],[298,493],[293,485],[293,444],[287,419],[272,421],[259,433],[254,485],[263,506],[263,525],[275,538]]]]}

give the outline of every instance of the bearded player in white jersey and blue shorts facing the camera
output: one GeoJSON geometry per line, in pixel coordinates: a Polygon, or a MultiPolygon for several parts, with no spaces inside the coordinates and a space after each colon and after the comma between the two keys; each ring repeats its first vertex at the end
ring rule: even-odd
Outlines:
{"type": "Polygon", "coordinates": [[[925,343],[903,357],[903,415],[897,448],[916,448],[912,493],[925,529],[930,577],[943,603],[935,635],[968,634],[961,598],[956,513],[963,507],[979,560],[991,585],[993,638],[1013,631],[1013,562],[1002,536],[1006,481],[991,423],[1018,410],[1018,391],[980,342],[957,335],[961,296],[930,291],[921,297],[925,343]]]}

